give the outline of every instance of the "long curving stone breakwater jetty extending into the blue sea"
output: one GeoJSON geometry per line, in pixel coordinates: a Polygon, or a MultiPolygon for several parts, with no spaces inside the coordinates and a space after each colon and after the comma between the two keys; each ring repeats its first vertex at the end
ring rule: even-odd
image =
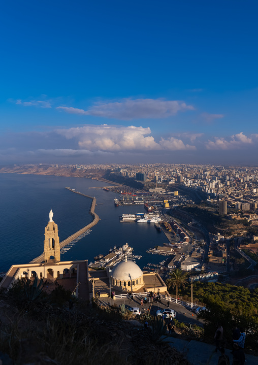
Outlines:
{"type": "MultiPolygon", "coordinates": [[[[80,230],[78,230],[76,233],[74,233],[72,236],[69,236],[68,238],[66,238],[65,240],[63,240],[62,242],[60,242],[60,249],[63,248],[64,246],[68,245],[70,242],[72,242],[73,240],[75,240],[76,238],[78,238],[80,235],[82,235],[84,232],[86,232],[86,230],[90,229],[91,227],[93,227],[95,224],[97,224],[100,220],[100,217],[98,216],[98,214],[95,213],[95,205],[96,205],[96,198],[83,194],[79,191],[75,191],[75,189],[71,189],[70,187],[66,187],[66,189],[82,195],[82,196],[86,196],[90,199],[92,199],[92,203],[90,206],[90,210],[89,213],[92,215],[93,220],[91,223],[87,224],[85,227],[81,228],[80,230]]],[[[36,262],[42,262],[44,260],[44,254],[42,253],[40,256],[36,257],[34,260],[30,261],[31,263],[36,263],[36,262]]]]}

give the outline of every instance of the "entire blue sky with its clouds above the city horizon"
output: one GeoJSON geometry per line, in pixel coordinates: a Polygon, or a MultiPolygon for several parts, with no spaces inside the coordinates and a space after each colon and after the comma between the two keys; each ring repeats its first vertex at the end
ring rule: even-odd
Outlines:
{"type": "Polygon", "coordinates": [[[0,4],[0,164],[256,163],[257,1],[0,4]]]}

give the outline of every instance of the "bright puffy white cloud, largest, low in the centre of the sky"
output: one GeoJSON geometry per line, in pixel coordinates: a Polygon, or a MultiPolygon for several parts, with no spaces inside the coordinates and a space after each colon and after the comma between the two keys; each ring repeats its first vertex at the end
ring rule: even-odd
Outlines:
{"type": "Polygon", "coordinates": [[[186,150],[195,149],[185,145],[182,140],[171,137],[155,142],[149,127],[85,125],[70,129],[57,129],[57,134],[67,138],[75,138],[78,145],[90,151],[149,151],[149,150],[186,150]]]}

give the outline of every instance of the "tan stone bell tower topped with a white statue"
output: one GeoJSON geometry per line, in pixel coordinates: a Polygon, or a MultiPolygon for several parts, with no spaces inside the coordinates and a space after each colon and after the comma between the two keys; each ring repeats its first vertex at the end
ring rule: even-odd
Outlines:
{"type": "Polygon", "coordinates": [[[45,228],[45,241],[44,241],[44,261],[47,262],[54,257],[54,262],[60,261],[60,245],[58,237],[58,227],[53,221],[52,209],[49,213],[49,222],[45,228]]]}

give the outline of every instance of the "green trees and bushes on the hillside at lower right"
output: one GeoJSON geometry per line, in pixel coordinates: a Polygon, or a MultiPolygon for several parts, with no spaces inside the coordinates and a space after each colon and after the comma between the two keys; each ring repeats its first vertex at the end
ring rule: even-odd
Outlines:
{"type": "MultiPolygon", "coordinates": [[[[190,296],[190,284],[181,292],[190,296]]],[[[196,298],[209,308],[200,314],[205,321],[207,339],[213,338],[216,323],[220,321],[225,339],[230,343],[231,329],[236,322],[247,333],[246,346],[258,350],[258,289],[251,291],[243,286],[197,282],[193,284],[193,301],[196,298]]]]}

